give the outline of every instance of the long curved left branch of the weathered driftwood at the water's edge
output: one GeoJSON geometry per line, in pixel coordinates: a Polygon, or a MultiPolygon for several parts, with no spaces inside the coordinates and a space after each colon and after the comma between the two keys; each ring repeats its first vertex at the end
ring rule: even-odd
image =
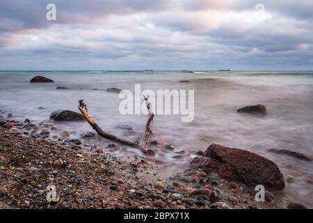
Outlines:
{"type": "MultiPolygon", "coordinates": [[[[155,155],[154,151],[152,151],[150,148],[146,147],[147,144],[145,144],[145,145],[136,144],[133,141],[128,141],[126,139],[120,139],[119,137],[117,137],[113,134],[109,134],[109,133],[104,132],[104,130],[102,130],[99,127],[99,125],[97,125],[97,123],[95,123],[95,121],[93,121],[93,118],[91,118],[89,116],[89,114],[87,112],[86,104],[83,103],[83,100],[79,100],[78,108],[79,108],[79,111],[81,111],[81,114],[83,115],[83,117],[86,119],[86,121],[91,125],[91,127],[93,127],[93,129],[97,132],[97,134],[99,134],[100,137],[102,137],[104,139],[109,139],[110,141],[115,141],[115,142],[120,143],[120,144],[125,144],[127,146],[131,146],[134,148],[140,148],[141,151],[143,153],[145,153],[146,155],[155,155]]],[[[147,137],[149,137],[149,135],[147,137]]]]}

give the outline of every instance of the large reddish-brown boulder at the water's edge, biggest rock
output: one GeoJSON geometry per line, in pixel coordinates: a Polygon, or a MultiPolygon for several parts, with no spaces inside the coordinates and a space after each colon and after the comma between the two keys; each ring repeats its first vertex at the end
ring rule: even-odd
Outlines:
{"type": "Polygon", "coordinates": [[[268,190],[284,190],[284,176],[271,160],[239,148],[211,144],[191,167],[216,172],[226,180],[238,180],[248,186],[264,185],[268,190]]]}

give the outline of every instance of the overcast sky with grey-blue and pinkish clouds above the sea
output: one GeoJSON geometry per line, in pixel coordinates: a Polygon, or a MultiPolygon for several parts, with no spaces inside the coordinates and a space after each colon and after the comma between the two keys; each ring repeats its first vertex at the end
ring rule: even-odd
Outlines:
{"type": "Polygon", "coordinates": [[[313,70],[313,0],[0,0],[0,70],[226,68],[313,70]]]}

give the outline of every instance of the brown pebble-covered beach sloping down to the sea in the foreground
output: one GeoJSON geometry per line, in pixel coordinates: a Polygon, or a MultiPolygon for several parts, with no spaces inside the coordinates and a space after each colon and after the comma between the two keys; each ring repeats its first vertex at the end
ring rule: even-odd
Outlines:
{"type": "Polygon", "coordinates": [[[131,151],[90,152],[75,140],[49,139],[29,120],[0,119],[12,125],[0,127],[0,208],[283,208],[201,169],[168,176],[172,163],[131,151]],[[41,133],[23,134],[30,125],[41,133]],[[56,187],[56,202],[46,199],[48,185],[56,187]]]}

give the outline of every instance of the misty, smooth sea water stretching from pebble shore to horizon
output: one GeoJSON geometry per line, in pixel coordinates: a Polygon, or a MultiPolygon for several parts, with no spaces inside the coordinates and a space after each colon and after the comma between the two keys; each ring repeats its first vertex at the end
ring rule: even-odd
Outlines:
{"type": "MultiPolygon", "coordinates": [[[[182,123],[177,115],[155,116],[151,140],[164,140],[176,151],[186,151],[184,160],[176,161],[170,158],[174,153],[156,148],[159,158],[186,165],[195,151],[204,151],[211,143],[246,148],[273,160],[284,176],[294,176],[295,183],[287,183],[284,190],[286,199],[313,207],[312,162],[267,152],[270,148],[287,148],[313,157],[313,72],[3,71],[0,106],[18,114],[18,119],[39,123],[56,109],[78,112],[77,102],[84,99],[89,114],[104,130],[134,140],[143,136],[147,116],[121,115],[122,99],[106,89],[134,91],[135,84],[141,84],[143,90],[195,90],[193,122],[182,123]],[[29,83],[35,75],[49,77],[55,83],[29,83]],[[190,82],[179,82],[182,79],[190,82]],[[57,86],[69,90],[56,90],[57,86]],[[268,116],[236,113],[240,107],[256,104],[266,105],[268,116]],[[116,128],[119,124],[131,125],[135,134],[123,136],[124,130],[116,128]]],[[[56,127],[74,130],[72,137],[91,131],[86,122],[58,123],[56,127]]]]}

